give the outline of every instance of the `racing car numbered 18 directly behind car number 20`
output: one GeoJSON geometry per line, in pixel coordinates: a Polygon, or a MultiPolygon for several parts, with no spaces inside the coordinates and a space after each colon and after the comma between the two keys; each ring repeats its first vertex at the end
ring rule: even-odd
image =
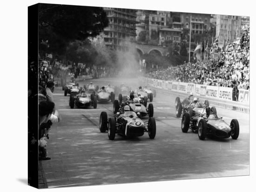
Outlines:
{"type": "Polygon", "coordinates": [[[154,115],[154,106],[152,103],[149,103],[148,108],[146,108],[143,104],[141,104],[137,100],[133,100],[133,101],[127,100],[125,102],[124,101],[121,102],[121,104],[120,104],[120,101],[115,100],[113,104],[114,114],[116,114],[125,105],[129,105],[135,113],[139,112],[140,118],[146,115],[148,115],[149,117],[153,117],[154,115]]]}

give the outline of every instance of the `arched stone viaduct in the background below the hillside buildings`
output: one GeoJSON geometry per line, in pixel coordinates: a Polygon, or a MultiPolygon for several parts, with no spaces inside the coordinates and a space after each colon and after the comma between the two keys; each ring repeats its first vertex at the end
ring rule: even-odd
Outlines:
{"type": "MultiPolygon", "coordinates": [[[[167,47],[163,47],[163,46],[137,44],[137,45],[135,45],[135,48],[136,48],[137,52],[140,54],[140,56],[142,56],[144,54],[150,54],[153,51],[158,52],[159,55],[161,55],[161,56],[169,55],[167,47]]],[[[189,52],[189,48],[187,49],[187,51],[189,52]]],[[[190,49],[190,53],[191,52],[193,54],[194,49],[190,49]]]]}

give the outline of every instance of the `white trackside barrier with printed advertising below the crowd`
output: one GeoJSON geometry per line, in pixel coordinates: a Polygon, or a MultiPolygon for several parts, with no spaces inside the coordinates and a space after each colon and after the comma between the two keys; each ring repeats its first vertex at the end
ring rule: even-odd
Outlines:
{"type": "Polygon", "coordinates": [[[194,96],[199,96],[201,101],[209,100],[210,105],[249,113],[249,90],[240,89],[238,101],[233,101],[233,89],[229,87],[164,81],[145,77],[141,77],[141,81],[156,88],[162,94],[170,94],[171,92],[172,95],[185,97],[193,93],[194,96]]]}

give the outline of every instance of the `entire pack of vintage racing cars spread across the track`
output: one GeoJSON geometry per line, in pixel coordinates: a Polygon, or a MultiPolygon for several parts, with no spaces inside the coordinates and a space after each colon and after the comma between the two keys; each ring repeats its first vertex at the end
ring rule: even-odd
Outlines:
{"type": "MultiPolygon", "coordinates": [[[[108,117],[105,111],[100,115],[99,129],[102,133],[108,131],[109,140],[115,139],[115,134],[124,137],[139,137],[145,132],[150,139],[156,135],[153,98],[156,90],[147,86],[139,86],[132,90],[122,83],[120,86],[106,86],[90,84],[79,87],[79,83],[69,82],[62,87],[64,96],[69,94],[69,106],[74,108],[97,108],[97,102],[113,103],[113,116],[108,117]],[[116,99],[117,98],[117,99],[116,99]],[[150,102],[150,103],[148,103],[150,102]],[[148,121],[144,121],[148,116],[148,121]]],[[[200,140],[206,137],[237,139],[239,136],[239,122],[232,119],[230,124],[218,117],[215,106],[209,106],[209,101],[204,103],[193,96],[175,99],[175,114],[181,118],[181,130],[187,133],[191,129],[198,134],[200,140]]]]}

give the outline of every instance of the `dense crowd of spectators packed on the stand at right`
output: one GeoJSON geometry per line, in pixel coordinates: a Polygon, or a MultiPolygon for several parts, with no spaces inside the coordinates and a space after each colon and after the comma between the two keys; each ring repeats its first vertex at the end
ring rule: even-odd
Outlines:
{"type": "Polygon", "coordinates": [[[243,27],[242,38],[233,43],[227,42],[225,48],[213,48],[218,59],[209,57],[203,61],[170,66],[149,72],[146,77],[197,83],[213,86],[233,87],[249,90],[249,27],[243,27]]]}

